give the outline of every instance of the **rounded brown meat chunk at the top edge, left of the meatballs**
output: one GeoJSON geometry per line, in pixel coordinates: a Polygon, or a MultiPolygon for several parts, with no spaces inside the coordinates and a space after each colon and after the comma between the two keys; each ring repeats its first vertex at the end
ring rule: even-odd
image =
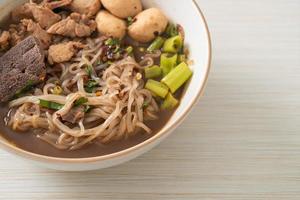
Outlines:
{"type": "Polygon", "coordinates": [[[73,0],[69,5],[73,12],[94,16],[101,8],[100,0],[73,0]]]}

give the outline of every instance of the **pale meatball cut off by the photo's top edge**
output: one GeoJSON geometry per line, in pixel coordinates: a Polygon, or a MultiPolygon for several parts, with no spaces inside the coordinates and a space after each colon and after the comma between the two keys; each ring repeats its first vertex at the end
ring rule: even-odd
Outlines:
{"type": "Polygon", "coordinates": [[[102,4],[120,18],[134,17],[142,11],[141,0],[102,0],[102,4]]]}

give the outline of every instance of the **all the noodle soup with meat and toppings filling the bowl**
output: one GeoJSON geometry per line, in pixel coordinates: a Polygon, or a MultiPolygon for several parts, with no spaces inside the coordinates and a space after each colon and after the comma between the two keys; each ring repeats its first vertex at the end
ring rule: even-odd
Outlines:
{"type": "Polygon", "coordinates": [[[183,28],[140,1],[88,2],[25,3],[2,28],[0,82],[14,84],[0,88],[0,126],[22,149],[111,154],[152,137],[180,103],[192,76],[183,28]]]}

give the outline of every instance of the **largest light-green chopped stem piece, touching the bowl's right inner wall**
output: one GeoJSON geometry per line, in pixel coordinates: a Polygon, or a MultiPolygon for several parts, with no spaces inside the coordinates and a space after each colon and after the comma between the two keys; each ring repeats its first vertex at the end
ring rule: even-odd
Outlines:
{"type": "Polygon", "coordinates": [[[193,72],[186,63],[181,63],[175,67],[161,82],[166,84],[172,93],[176,92],[189,78],[193,72]]]}

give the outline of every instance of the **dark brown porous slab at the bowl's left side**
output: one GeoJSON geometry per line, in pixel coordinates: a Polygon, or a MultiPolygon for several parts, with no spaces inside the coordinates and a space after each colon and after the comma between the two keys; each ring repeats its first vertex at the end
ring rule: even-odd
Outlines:
{"type": "Polygon", "coordinates": [[[11,99],[17,91],[37,84],[46,74],[41,43],[29,36],[0,58],[0,102],[11,99]]]}

